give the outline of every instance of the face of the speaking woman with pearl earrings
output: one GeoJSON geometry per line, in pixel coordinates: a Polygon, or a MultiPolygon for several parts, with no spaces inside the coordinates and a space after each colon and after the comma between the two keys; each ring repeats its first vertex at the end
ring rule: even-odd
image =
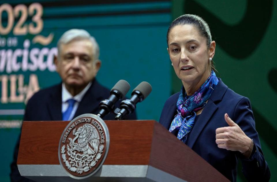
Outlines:
{"type": "MultiPolygon", "coordinates": [[[[209,58],[214,57],[215,42],[207,47],[207,40],[189,24],[173,27],[168,36],[168,53],[183,85],[202,85],[211,74],[209,58]]],[[[200,87],[199,86],[199,87],[200,87]]]]}

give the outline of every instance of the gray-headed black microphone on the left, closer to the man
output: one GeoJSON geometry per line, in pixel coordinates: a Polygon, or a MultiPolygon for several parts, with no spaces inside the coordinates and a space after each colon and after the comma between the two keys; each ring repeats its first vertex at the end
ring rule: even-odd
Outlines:
{"type": "Polygon", "coordinates": [[[99,113],[97,116],[103,118],[106,114],[109,114],[115,108],[115,103],[125,97],[126,93],[130,90],[130,85],[125,80],[119,80],[115,86],[111,89],[110,97],[102,100],[99,103],[99,113]]]}

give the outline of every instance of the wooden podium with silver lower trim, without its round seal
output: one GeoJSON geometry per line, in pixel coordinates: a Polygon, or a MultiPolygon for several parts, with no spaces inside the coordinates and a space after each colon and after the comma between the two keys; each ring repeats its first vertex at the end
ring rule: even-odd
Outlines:
{"type": "Polygon", "coordinates": [[[24,121],[17,165],[34,181],[229,181],[154,120],[106,120],[107,158],[97,173],[73,179],[59,164],[58,147],[69,121],[24,121]]]}

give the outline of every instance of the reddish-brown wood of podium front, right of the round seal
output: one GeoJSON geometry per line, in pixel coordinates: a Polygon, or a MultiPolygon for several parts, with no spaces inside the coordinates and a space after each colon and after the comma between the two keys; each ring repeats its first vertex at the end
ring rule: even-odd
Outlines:
{"type": "Polygon", "coordinates": [[[106,165],[147,165],[156,121],[105,121],[110,133],[106,165]]]}

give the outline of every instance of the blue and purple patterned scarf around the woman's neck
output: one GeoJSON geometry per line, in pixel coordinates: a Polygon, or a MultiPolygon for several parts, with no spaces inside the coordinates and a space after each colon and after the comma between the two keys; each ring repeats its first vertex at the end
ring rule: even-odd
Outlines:
{"type": "Polygon", "coordinates": [[[179,130],[177,138],[184,143],[186,142],[188,133],[191,131],[196,112],[201,110],[206,101],[212,95],[212,92],[218,84],[218,78],[215,72],[212,70],[209,78],[203,83],[203,85],[194,92],[193,95],[187,95],[184,87],[182,86],[180,95],[177,100],[177,112],[178,114],[174,117],[169,131],[172,132],[175,129],[179,130]],[[185,97],[184,97],[185,93],[185,97]]]}

